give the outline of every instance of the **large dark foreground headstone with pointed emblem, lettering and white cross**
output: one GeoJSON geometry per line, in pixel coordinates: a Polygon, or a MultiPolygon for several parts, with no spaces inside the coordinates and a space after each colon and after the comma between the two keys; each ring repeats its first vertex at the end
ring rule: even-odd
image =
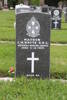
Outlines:
{"type": "Polygon", "coordinates": [[[49,77],[50,16],[16,6],[16,76],[49,77]]]}

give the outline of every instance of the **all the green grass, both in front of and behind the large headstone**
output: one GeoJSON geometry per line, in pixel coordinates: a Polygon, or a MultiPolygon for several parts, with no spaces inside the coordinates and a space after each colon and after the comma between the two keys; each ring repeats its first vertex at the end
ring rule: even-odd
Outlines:
{"type": "MultiPolygon", "coordinates": [[[[14,11],[0,11],[0,77],[10,76],[15,69],[14,11]]],[[[67,80],[67,23],[62,18],[61,30],[51,30],[50,73],[51,79],[67,80]],[[57,45],[62,43],[62,45],[57,45]]],[[[67,100],[67,83],[52,80],[27,79],[0,82],[0,100],[67,100]]]]}

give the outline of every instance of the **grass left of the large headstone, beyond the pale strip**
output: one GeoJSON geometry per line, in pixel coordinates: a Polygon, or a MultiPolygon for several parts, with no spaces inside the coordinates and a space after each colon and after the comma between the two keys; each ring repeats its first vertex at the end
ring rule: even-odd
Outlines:
{"type": "Polygon", "coordinates": [[[15,40],[14,11],[0,11],[0,40],[15,40]]]}

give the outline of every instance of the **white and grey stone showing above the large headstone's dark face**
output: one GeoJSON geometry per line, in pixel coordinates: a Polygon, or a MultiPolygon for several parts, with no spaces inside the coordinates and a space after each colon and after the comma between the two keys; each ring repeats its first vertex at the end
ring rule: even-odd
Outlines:
{"type": "Polygon", "coordinates": [[[45,13],[46,12],[42,12],[41,7],[38,6],[28,6],[28,5],[24,5],[24,4],[19,4],[15,6],[15,14],[21,14],[21,13],[45,13]]]}

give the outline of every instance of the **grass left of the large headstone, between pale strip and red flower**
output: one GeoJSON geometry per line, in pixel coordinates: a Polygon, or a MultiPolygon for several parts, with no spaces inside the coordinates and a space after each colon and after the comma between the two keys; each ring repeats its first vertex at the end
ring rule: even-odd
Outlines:
{"type": "Polygon", "coordinates": [[[0,44],[0,76],[8,75],[11,66],[15,68],[15,45],[0,44]]]}

